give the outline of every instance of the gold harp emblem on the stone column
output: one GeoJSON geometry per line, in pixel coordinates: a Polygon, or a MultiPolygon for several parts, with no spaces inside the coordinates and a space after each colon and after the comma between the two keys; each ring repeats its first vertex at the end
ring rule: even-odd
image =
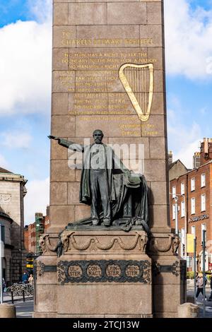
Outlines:
{"type": "Polygon", "coordinates": [[[153,102],[153,64],[123,64],[119,78],[141,121],[148,121],[153,102]]]}

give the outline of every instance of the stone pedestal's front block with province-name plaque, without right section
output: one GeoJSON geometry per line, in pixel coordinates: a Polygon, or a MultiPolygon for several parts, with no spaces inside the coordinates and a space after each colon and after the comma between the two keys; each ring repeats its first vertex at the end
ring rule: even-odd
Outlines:
{"type": "Polygon", "coordinates": [[[139,227],[129,233],[65,230],[64,254],[37,261],[34,317],[152,317],[147,240],[139,227]]]}

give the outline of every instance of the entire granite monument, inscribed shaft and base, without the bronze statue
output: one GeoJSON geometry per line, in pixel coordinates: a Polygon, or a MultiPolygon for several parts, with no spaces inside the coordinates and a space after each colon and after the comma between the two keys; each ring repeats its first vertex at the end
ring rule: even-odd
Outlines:
{"type": "Polygon", "coordinates": [[[57,258],[59,232],[89,217],[90,207],[79,203],[81,170],[52,141],[51,227],[40,240],[34,316],[176,317],[186,275],[169,220],[163,1],[53,6],[51,134],[83,144],[101,129],[106,144],[143,146],[134,162],[149,188],[151,237],[139,229],[67,230],[57,258]]]}

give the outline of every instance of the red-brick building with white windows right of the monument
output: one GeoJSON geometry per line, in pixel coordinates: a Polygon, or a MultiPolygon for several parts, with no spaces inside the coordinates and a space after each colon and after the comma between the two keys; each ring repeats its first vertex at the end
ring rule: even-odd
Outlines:
{"type": "Polygon", "coordinates": [[[212,139],[204,138],[199,156],[199,167],[170,181],[170,220],[175,228],[177,211],[179,235],[182,237],[179,254],[187,258],[190,270],[194,269],[194,261],[193,255],[187,256],[186,253],[187,234],[196,235],[196,263],[201,270],[202,231],[206,230],[206,270],[209,270],[212,265],[212,139]]]}

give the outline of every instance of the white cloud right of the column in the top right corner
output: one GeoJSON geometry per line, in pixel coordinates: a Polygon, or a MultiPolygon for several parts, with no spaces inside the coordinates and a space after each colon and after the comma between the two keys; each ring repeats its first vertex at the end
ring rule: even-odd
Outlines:
{"type": "Polygon", "coordinates": [[[212,9],[192,10],[190,0],[165,0],[167,73],[211,78],[212,9]]]}

